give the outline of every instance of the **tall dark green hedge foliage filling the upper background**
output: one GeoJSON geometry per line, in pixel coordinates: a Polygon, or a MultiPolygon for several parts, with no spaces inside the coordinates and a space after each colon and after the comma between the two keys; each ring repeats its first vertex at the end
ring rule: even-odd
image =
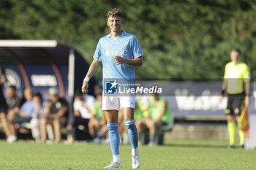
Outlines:
{"type": "Polygon", "coordinates": [[[145,54],[140,78],[223,76],[230,50],[242,50],[256,74],[256,1],[247,0],[0,0],[0,39],[57,39],[92,61],[109,33],[109,9],[124,12],[124,30],[145,54]]]}

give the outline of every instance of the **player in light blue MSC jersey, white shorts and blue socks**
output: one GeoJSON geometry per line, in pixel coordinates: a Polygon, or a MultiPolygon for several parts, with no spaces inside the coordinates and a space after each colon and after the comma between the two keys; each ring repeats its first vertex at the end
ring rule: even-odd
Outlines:
{"type": "MultiPolygon", "coordinates": [[[[89,80],[96,72],[100,61],[103,66],[104,79],[135,79],[135,66],[142,66],[143,52],[135,35],[128,34],[121,29],[124,24],[123,13],[120,9],[111,9],[108,12],[107,25],[110,34],[99,39],[89,71],[83,81],[82,91],[88,92],[89,80]]],[[[102,97],[102,110],[104,111],[110,148],[113,161],[106,169],[121,168],[119,157],[119,134],[118,134],[118,110],[123,109],[125,125],[128,129],[129,139],[132,145],[132,168],[140,167],[138,153],[138,131],[133,120],[135,108],[135,96],[104,96],[102,97]]]]}

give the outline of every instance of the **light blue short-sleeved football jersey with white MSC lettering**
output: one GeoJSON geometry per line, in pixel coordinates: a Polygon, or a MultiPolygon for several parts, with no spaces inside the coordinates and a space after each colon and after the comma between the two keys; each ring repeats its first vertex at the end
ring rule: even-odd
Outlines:
{"type": "Polygon", "coordinates": [[[94,53],[94,59],[102,61],[103,79],[135,79],[135,66],[126,63],[116,65],[113,63],[116,55],[127,59],[142,56],[143,52],[136,36],[123,30],[115,40],[110,33],[99,39],[94,53]]]}

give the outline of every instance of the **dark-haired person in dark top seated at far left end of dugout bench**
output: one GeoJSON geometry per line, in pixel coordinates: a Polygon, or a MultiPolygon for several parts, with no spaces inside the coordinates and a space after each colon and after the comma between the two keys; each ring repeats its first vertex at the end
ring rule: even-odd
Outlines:
{"type": "Polygon", "coordinates": [[[10,85],[6,89],[7,93],[7,120],[10,122],[9,127],[12,134],[16,134],[15,131],[15,118],[18,115],[20,110],[20,98],[17,96],[16,87],[14,85],[10,85]]]}

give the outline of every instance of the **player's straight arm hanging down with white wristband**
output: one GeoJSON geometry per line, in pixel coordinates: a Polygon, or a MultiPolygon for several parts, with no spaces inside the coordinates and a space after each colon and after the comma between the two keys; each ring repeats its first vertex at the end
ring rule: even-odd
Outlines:
{"type": "Polygon", "coordinates": [[[85,79],[83,80],[83,85],[82,85],[82,92],[83,93],[88,93],[88,87],[89,87],[89,80],[91,79],[91,77],[94,75],[94,73],[97,71],[98,67],[99,67],[99,62],[96,59],[94,59],[94,61],[92,61],[91,66],[89,67],[89,70],[86,74],[85,79]]]}

